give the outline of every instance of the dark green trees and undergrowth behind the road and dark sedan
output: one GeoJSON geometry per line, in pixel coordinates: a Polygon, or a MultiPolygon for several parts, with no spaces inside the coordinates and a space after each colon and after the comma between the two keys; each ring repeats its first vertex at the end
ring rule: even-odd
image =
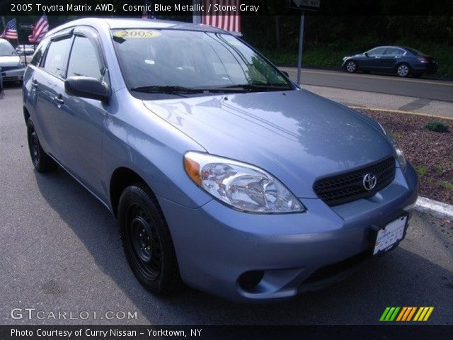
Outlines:
{"type": "MultiPolygon", "coordinates": [[[[299,20],[299,16],[243,17],[243,38],[275,64],[296,66],[299,20]]],[[[403,45],[436,57],[437,74],[453,77],[453,16],[316,16],[307,13],[304,34],[304,66],[339,68],[347,55],[378,45],[403,45]]]]}

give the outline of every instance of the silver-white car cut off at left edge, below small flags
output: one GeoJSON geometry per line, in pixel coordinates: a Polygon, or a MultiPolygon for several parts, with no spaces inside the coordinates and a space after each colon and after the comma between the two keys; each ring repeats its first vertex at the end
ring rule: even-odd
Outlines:
{"type": "Polygon", "coordinates": [[[0,67],[4,81],[22,81],[25,64],[8,40],[0,39],[0,67]]]}

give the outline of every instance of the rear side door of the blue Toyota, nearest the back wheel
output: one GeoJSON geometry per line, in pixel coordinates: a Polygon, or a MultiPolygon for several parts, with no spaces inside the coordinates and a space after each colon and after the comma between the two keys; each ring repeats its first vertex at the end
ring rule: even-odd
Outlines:
{"type": "MultiPolygon", "coordinates": [[[[52,38],[40,67],[31,79],[35,91],[35,120],[37,120],[45,150],[59,159],[62,156],[62,140],[57,120],[64,110],[64,75],[71,35],[63,33],[52,38]]],[[[41,136],[40,136],[41,140],[41,136]]]]}

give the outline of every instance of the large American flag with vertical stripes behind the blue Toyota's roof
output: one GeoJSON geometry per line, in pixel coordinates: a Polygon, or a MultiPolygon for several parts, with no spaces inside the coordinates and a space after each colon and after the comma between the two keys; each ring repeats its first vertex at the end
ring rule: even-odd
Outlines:
{"type": "Polygon", "coordinates": [[[230,32],[241,32],[239,0],[202,0],[202,5],[205,8],[205,11],[202,12],[202,23],[230,32]],[[236,6],[236,11],[214,12],[215,4],[220,6],[236,6]]]}

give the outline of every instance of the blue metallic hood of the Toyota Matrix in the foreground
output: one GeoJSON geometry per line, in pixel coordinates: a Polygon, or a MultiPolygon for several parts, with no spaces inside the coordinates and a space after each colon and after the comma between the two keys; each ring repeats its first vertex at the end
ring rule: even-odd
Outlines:
{"type": "Polygon", "coordinates": [[[379,125],[309,91],[144,101],[210,154],[259,166],[299,198],[316,179],[394,153],[379,125]]]}

